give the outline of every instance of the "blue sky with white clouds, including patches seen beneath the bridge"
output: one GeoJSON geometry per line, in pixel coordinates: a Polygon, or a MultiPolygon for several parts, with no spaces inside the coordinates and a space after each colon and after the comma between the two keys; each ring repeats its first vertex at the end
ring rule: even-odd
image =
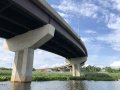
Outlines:
{"type": "MultiPolygon", "coordinates": [[[[85,43],[87,65],[120,67],[120,0],[47,0],[85,43]]],[[[0,67],[12,67],[14,52],[3,48],[0,67]]],[[[35,50],[34,68],[63,65],[65,58],[35,50]]]]}

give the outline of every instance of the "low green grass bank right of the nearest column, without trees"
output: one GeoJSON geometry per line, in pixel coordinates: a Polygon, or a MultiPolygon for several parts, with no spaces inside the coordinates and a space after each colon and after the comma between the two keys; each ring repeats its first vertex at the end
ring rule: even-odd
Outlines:
{"type": "MultiPolygon", "coordinates": [[[[35,72],[34,72],[35,73],[35,72]]],[[[73,77],[69,72],[37,72],[33,75],[34,81],[43,80],[95,80],[95,81],[113,81],[120,79],[120,73],[84,73],[81,77],[73,77]],[[37,75],[38,74],[38,75],[37,75]],[[40,75],[40,76],[39,76],[40,75]]]]}

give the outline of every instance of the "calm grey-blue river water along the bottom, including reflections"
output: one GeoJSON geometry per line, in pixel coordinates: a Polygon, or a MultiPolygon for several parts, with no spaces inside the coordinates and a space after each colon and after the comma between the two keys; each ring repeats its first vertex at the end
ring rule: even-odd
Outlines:
{"type": "Polygon", "coordinates": [[[0,90],[120,90],[120,81],[0,82],[0,90]]]}

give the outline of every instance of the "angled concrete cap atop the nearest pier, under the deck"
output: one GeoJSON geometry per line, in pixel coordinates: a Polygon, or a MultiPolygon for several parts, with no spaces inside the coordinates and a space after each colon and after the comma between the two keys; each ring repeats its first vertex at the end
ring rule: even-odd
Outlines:
{"type": "Polygon", "coordinates": [[[3,46],[14,52],[25,48],[36,49],[54,37],[54,32],[55,28],[51,24],[47,24],[35,30],[6,39],[3,46]]]}

